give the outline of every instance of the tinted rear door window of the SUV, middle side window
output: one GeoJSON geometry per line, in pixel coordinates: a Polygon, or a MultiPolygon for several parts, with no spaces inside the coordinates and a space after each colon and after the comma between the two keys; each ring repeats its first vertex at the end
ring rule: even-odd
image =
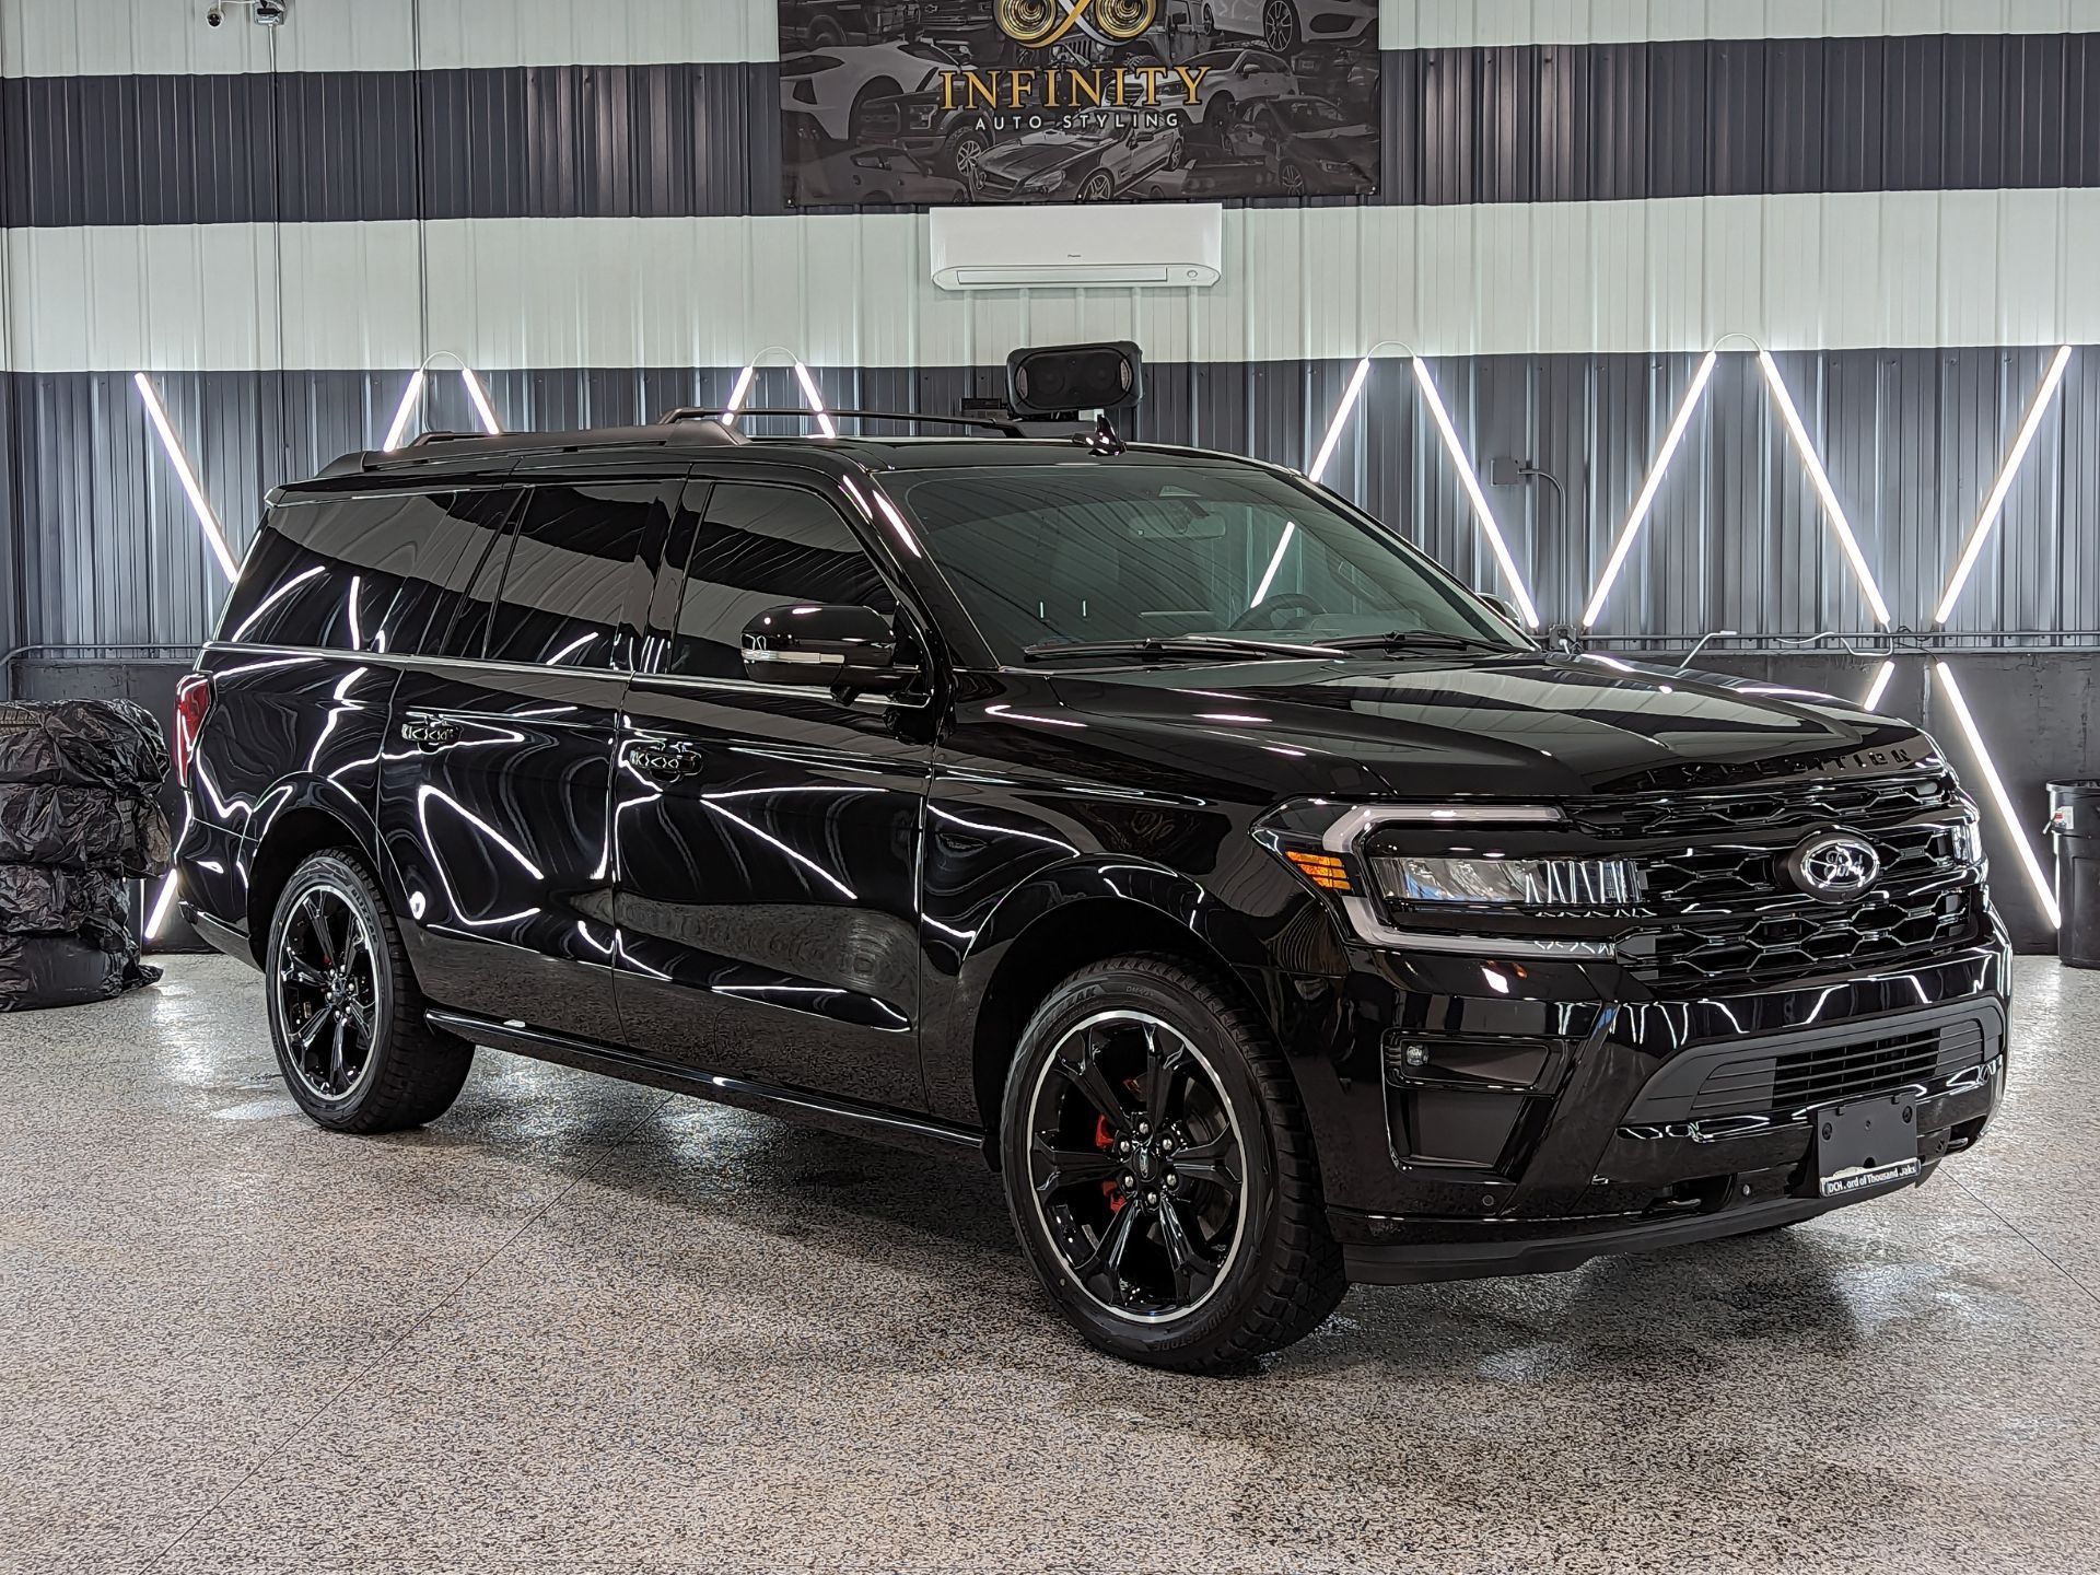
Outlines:
{"type": "Polygon", "coordinates": [[[611,668],[659,487],[527,489],[489,624],[491,662],[611,668]]]}

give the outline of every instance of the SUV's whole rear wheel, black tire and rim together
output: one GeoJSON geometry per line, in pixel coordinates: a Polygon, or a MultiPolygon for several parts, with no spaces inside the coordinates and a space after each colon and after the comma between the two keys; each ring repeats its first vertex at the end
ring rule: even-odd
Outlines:
{"type": "Polygon", "coordinates": [[[346,850],[315,853],[286,882],[262,956],[277,1071],[332,1132],[399,1132],[443,1115],[475,1046],[424,1023],[401,930],[346,850]]]}

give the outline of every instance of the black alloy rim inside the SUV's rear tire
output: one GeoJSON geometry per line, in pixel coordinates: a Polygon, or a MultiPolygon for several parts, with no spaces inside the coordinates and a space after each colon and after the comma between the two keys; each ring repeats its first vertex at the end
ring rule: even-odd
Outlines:
{"type": "Polygon", "coordinates": [[[372,934],[340,886],[317,880],[288,916],[273,985],[288,1069],[315,1098],[344,1100],[372,1071],[378,983],[372,934]]]}

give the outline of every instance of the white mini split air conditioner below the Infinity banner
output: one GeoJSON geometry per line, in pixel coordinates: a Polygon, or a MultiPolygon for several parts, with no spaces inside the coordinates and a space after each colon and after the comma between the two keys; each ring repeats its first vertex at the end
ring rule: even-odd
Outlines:
{"type": "Polygon", "coordinates": [[[1222,262],[1218,204],[932,210],[943,290],[1212,286],[1222,262]]]}

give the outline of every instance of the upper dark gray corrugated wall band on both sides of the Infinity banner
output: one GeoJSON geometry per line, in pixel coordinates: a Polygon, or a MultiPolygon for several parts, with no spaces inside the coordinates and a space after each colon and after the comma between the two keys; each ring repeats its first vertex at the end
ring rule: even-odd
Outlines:
{"type": "MultiPolygon", "coordinates": [[[[1380,204],[2100,185],[2100,34],[1386,50],[1378,69],[1380,204]]],[[[6,227],[781,210],[771,63],[0,80],[6,227]]]]}

